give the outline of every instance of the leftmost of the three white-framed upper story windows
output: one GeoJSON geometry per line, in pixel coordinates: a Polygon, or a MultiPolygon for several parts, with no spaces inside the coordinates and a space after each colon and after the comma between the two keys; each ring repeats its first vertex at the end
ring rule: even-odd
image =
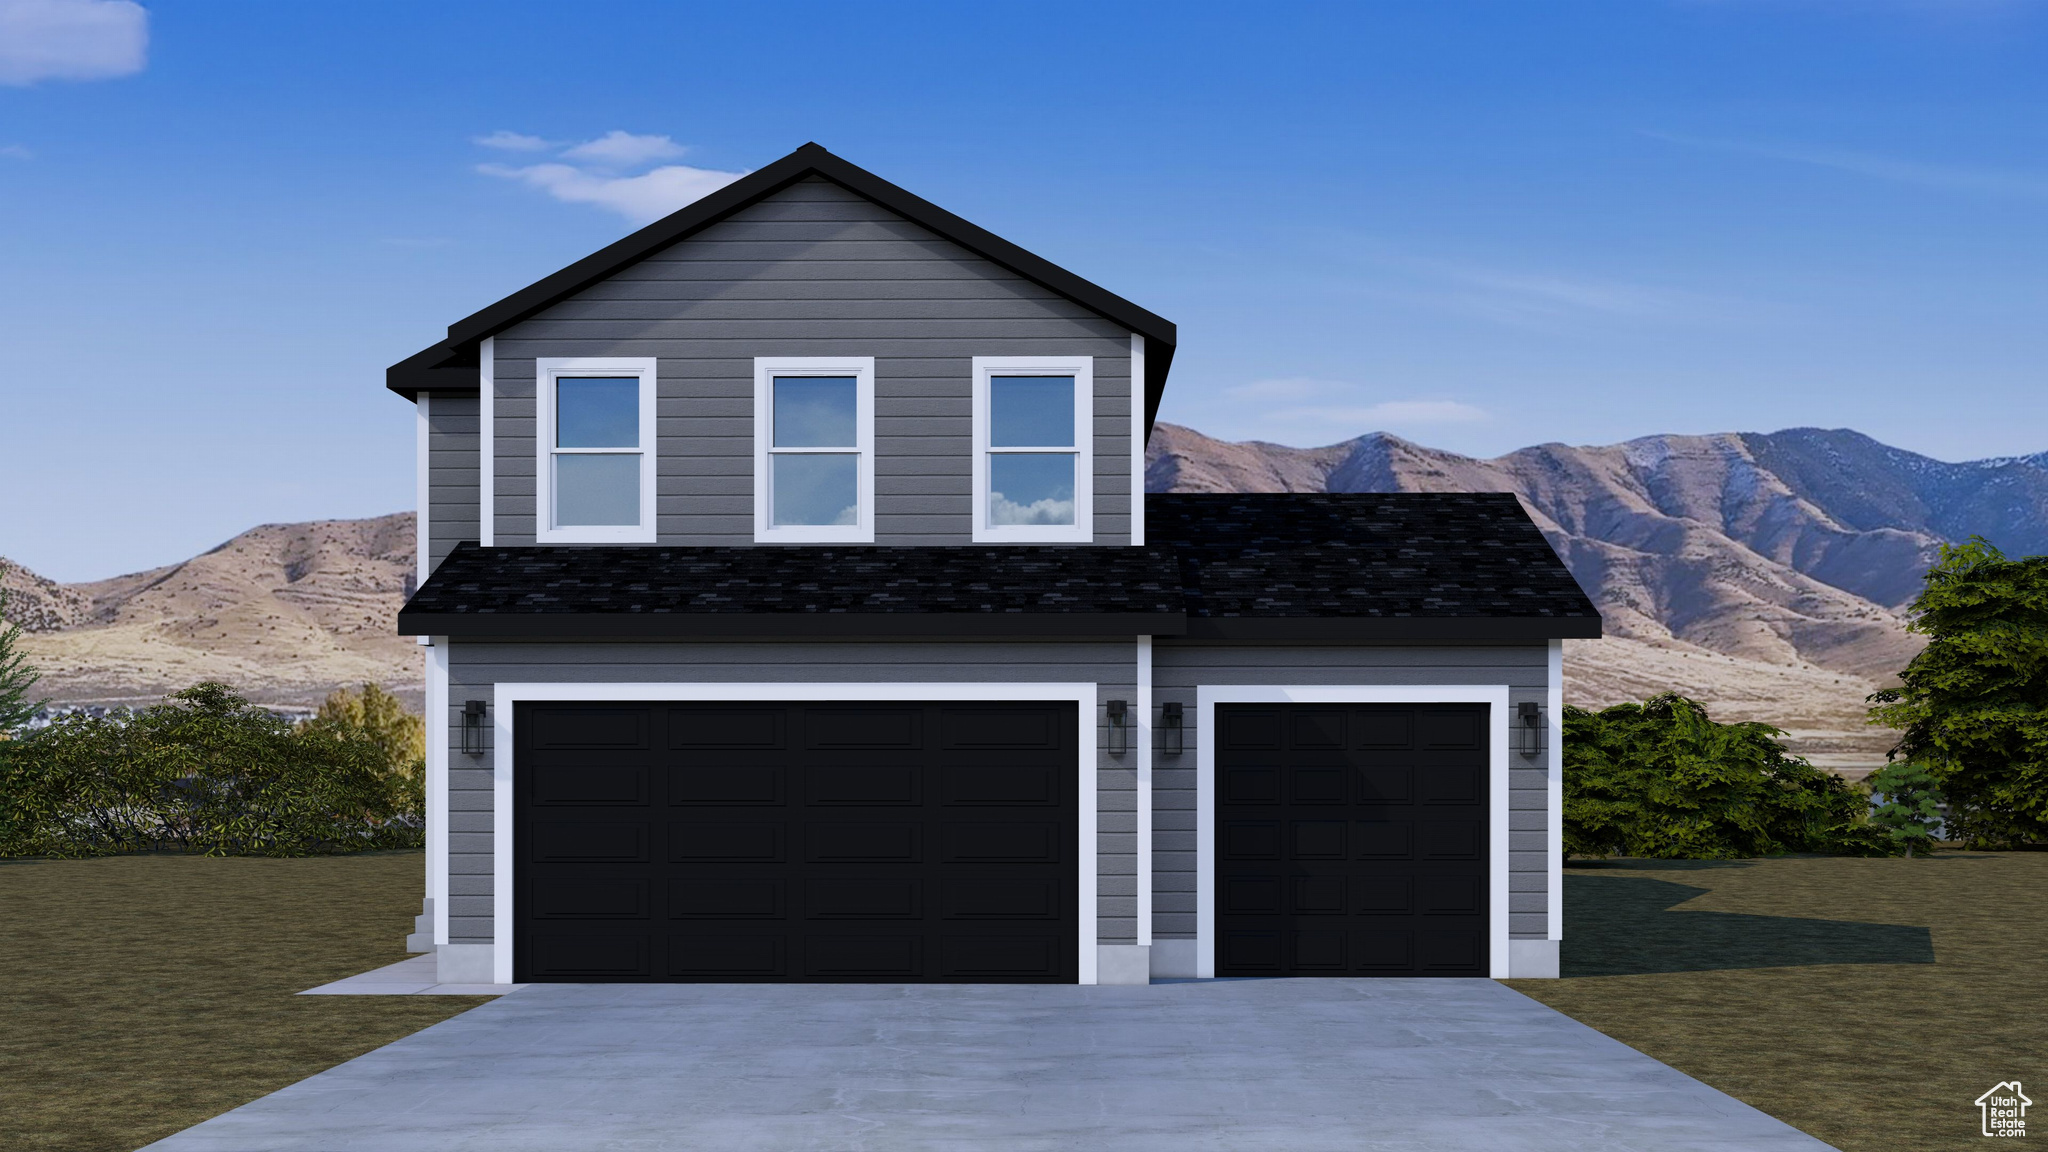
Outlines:
{"type": "Polygon", "coordinates": [[[535,367],[535,539],[653,543],[653,359],[535,367]]]}

